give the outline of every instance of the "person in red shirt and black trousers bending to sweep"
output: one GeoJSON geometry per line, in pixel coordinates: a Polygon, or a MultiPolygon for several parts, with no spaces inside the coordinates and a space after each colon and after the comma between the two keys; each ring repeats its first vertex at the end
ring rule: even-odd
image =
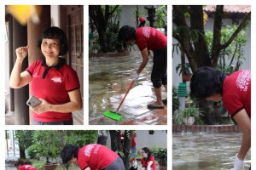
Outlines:
{"type": "MultiPolygon", "coordinates": [[[[151,82],[153,82],[156,101],[148,105],[148,109],[163,109],[161,87],[167,91],[167,38],[160,31],[152,27],[140,27],[135,30],[131,26],[122,26],[119,30],[119,40],[132,43],[136,42],[140,49],[143,61],[137,71],[134,72],[136,82],[140,73],[148,63],[148,55],[151,50],[154,53],[154,65],[151,72],[151,82]]],[[[166,102],[166,100],[164,100],[166,102]]]]}

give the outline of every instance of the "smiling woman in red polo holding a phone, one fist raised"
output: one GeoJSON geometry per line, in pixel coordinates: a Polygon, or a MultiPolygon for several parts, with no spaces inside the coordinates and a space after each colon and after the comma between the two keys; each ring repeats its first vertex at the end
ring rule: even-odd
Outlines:
{"type": "Polygon", "coordinates": [[[33,124],[36,125],[72,125],[72,111],[82,108],[79,78],[65,59],[68,51],[67,37],[60,28],[49,27],[40,40],[44,59],[35,61],[21,72],[29,45],[16,49],[17,59],[10,77],[11,88],[22,88],[31,82],[32,95],[42,103],[31,108],[33,124]],[[20,73],[21,72],[21,73],[20,73]]]}

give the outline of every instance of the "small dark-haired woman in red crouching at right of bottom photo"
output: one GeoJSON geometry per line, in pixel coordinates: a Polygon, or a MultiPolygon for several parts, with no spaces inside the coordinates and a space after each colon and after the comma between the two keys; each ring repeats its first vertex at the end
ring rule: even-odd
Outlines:
{"type": "Polygon", "coordinates": [[[156,170],[154,156],[151,155],[150,150],[147,147],[144,147],[141,150],[141,154],[143,156],[143,159],[141,160],[142,170],[156,170]]]}

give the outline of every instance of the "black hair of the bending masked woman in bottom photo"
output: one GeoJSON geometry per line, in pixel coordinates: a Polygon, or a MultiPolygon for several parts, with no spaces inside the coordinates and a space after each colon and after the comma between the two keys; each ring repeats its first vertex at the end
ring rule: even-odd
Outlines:
{"type": "Polygon", "coordinates": [[[79,154],[79,146],[76,146],[73,144],[67,144],[61,150],[61,159],[63,164],[68,165],[68,161],[70,161],[73,157],[78,158],[78,154],[79,154]]]}

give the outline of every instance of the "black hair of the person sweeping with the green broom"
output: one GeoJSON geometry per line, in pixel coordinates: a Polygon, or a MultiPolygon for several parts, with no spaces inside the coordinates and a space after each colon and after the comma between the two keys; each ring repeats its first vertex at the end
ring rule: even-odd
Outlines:
{"type": "Polygon", "coordinates": [[[122,26],[119,30],[119,40],[123,42],[130,41],[131,39],[136,40],[136,30],[131,26],[122,26]]]}

